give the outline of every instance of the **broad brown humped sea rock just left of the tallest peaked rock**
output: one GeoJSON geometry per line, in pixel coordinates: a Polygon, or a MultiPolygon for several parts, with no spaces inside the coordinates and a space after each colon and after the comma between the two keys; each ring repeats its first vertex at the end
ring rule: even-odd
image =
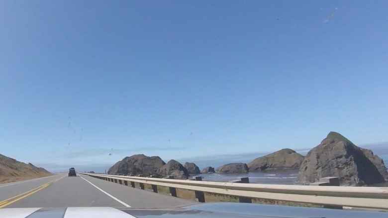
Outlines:
{"type": "Polygon", "coordinates": [[[248,163],[249,171],[299,169],[303,155],[285,148],[274,153],[259,157],[248,163]]]}

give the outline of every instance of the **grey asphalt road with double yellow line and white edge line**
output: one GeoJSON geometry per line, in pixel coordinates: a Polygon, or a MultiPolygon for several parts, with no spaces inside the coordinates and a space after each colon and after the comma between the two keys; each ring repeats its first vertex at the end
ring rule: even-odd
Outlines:
{"type": "Polygon", "coordinates": [[[172,208],[194,203],[80,174],[56,174],[0,185],[0,208],[172,208]]]}

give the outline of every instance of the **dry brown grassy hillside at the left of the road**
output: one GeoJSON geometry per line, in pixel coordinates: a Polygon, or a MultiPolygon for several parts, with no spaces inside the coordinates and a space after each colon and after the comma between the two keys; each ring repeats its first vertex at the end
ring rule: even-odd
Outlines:
{"type": "Polygon", "coordinates": [[[0,154],[0,183],[14,182],[51,175],[50,172],[31,163],[25,164],[0,154]]]}

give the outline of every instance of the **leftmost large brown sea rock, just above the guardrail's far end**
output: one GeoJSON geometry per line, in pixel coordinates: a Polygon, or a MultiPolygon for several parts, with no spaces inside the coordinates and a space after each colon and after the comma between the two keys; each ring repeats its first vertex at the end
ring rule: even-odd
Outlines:
{"type": "Polygon", "coordinates": [[[108,174],[150,176],[157,174],[159,168],[165,164],[158,156],[148,157],[144,154],[135,154],[115,163],[109,168],[108,174]]]}

